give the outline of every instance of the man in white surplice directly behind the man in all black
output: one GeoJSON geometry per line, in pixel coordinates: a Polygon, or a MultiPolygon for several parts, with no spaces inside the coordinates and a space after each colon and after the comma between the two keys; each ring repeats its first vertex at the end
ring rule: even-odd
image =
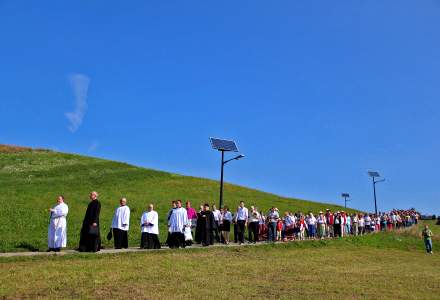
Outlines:
{"type": "Polygon", "coordinates": [[[130,227],[130,208],[127,199],[119,200],[120,206],[115,210],[112,220],[112,230],[115,249],[128,248],[128,229],[130,227]]]}

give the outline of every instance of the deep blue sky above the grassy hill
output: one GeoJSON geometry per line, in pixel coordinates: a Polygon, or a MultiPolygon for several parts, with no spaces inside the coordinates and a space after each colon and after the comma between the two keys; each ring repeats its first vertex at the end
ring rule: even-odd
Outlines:
{"type": "Polygon", "coordinates": [[[0,0],[0,143],[440,213],[438,1],[0,0]]]}

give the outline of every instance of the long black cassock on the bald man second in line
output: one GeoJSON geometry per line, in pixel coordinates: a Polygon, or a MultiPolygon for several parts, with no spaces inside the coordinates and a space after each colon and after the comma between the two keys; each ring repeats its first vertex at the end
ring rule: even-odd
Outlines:
{"type": "Polygon", "coordinates": [[[101,212],[101,203],[98,199],[90,201],[87,206],[86,215],[84,216],[83,225],[81,227],[81,236],[79,240],[79,251],[81,252],[97,252],[101,249],[101,235],[99,230],[99,213],[101,212]],[[91,225],[97,224],[96,229],[92,229],[91,225]],[[96,232],[93,232],[95,230],[96,232]]]}

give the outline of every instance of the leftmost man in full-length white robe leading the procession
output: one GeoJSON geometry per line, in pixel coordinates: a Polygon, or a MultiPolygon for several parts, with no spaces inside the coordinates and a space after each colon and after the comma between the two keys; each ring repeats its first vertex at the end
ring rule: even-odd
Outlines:
{"type": "Polygon", "coordinates": [[[59,252],[67,245],[67,213],[69,208],[64,203],[64,197],[58,196],[57,204],[49,209],[50,223],[48,229],[48,251],[59,252]]]}

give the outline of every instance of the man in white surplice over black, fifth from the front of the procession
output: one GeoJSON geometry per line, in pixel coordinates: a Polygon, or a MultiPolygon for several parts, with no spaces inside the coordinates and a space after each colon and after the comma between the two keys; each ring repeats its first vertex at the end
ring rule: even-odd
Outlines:
{"type": "Polygon", "coordinates": [[[177,208],[172,210],[168,220],[168,231],[170,233],[168,246],[170,248],[185,248],[184,232],[186,226],[190,226],[188,214],[186,209],[182,207],[182,201],[177,200],[177,208]]]}

